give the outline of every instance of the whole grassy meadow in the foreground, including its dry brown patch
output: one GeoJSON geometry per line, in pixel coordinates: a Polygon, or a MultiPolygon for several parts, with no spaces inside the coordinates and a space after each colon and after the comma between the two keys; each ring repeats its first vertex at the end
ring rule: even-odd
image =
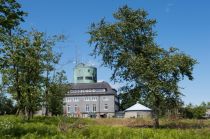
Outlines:
{"type": "Polygon", "coordinates": [[[0,138],[21,139],[210,139],[210,120],[161,120],[151,127],[143,119],[34,117],[25,121],[0,116],[0,138]]]}

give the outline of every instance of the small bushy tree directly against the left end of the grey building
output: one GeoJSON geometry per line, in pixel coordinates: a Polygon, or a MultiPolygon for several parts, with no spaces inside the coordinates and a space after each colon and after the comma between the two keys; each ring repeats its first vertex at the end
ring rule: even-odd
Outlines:
{"type": "Polygon", "coordinates": [[[69,90],[65,72],[57,72],[49,86],[49,110],[52,115],[61,115],[63,114],[63,98],[69,90]]]}

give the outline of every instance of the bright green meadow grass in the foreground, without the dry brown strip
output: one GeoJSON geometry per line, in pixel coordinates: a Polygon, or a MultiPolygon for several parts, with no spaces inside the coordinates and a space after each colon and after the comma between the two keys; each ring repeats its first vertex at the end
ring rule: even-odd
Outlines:
{"type": "MultiPolygon", "coordinates": [[[[185,130],[182,130],[180,128],[130,128],[125,126],[96,125],[95,120],[100,119],[77,119],[69,117],[35,117],[33,120],[24,121],[19,117],[0,116],[0,136],[3,139],[208,139],[210,136],[209,126],[204,127],[202,129],[186,128],[185,130]],[[59,129],[59,123],[61,121],[65,122],[68,125],[68,129],[65,132],[59,129]],[[81,128],[78,128],[78,126],[72,126],[79,124],[85,124],[86,126],[83,126],[81,128]]],[[[178,124],[194,125],[195,122],[196,121],[186,120],[179,122],[178,124]]],[[[205,123],[208,123],[208,125],[210,125],[210,121],[206,121],[205,123]]]]}

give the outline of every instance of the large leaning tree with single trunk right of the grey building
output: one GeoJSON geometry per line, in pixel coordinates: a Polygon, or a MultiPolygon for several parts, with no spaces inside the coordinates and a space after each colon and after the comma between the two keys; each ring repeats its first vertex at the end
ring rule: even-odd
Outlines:
{"type": "Polygon", "coordinates": [[[148,19],[144,10],[123,6],[113,16],[115,23],[102,19],[91,25],[92,55],[101,56],[102,64],[113,70],[112,80],[126,81],[128,88],[139,90],[139,98],[153,109],[158,127],[162,106],[179,106],[178,82],[185,76],[193,79],[196,60],[176,48],[158,46],[153,31],[156,21],[148,19]]]}

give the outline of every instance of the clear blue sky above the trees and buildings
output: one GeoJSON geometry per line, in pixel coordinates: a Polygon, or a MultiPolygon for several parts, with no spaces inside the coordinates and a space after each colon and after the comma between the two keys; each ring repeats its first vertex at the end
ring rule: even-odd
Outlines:
{"type": "Polygon", "coordinates": [[[48,35],[64,34],[67,39],[56,46],[62,58],[58,70],[66,71],[72,82],[75,60],[98,68],[98,81],[107,81],[114,88],[122,84],[110,81],[111,70],[101,66],[100,58],[90,56],[88,29],[105,17],[114,22],[112,14],[128,5],[144,9],[148,18],[157,20],[155,41],[163,48],[171,46],[198,61],[193,81],[180,82],[185,104],[210,102],[210,1],[209,0],[18,0],[28,12],[22,27],[36,28],[48,35]]]}

